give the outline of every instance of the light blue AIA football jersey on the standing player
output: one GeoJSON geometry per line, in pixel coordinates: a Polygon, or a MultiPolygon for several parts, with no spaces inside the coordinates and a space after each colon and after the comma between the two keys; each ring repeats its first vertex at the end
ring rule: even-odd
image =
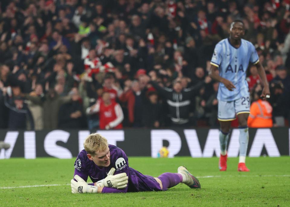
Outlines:
{"type": "Polygon", "coordinates": [[[234,101],[249,96],[249,86],[246,81],[249,62],[253,64],[259,62],[259,56],[251,42],[241,39],[240,47],[235,48],[227,38],[216,44],[211,64],[218,67],[221,77],[228,79],[236,87],[233,91],[229,91],[223,83],[220,83],[218,100],[234,101]]]}

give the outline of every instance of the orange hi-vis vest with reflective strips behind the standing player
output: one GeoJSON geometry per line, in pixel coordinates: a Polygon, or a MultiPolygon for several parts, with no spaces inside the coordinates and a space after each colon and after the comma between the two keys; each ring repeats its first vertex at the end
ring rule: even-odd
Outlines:
{"type": "Polygon", "coordinates": [[[259,99],[252,103],[248,126],[252,128],[269,128],[273,126],[272,106],[267,101],[259,99]]]}

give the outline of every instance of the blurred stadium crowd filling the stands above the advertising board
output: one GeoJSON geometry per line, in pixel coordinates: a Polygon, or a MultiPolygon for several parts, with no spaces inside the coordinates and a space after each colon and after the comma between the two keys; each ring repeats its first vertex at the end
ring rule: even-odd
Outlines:
{"type": "MultiPolygon", "coordinates": [[[[209,61],[235,19],[266,70],[274,126],[289,123],[289,0],[0,4],[0,128],[217,127],[209,61]]],[[[263,86],[247,73],[255,101],[263,86]]]]}

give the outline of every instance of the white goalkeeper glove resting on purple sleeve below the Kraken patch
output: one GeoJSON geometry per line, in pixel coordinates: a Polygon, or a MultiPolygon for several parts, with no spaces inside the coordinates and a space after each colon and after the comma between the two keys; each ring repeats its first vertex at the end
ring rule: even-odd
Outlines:
{"type": "Polygon", "coordinates": [[[123,189],[127,187],[128,176],[126,173],[120,173],[114,175],[115,168],[112,167],[108,172],[108,176],[103,180],[97,182],[98,187],[112,187],[117,189],[123,189]]]}

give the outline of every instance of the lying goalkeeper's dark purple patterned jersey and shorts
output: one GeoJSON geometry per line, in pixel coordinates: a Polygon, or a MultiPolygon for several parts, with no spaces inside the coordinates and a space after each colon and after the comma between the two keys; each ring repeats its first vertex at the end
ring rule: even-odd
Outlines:
{"type": "Polygon", "coordinates": [[[129,167],[128,157],[125,152],[114,145],[109,144],[110,150],[110,165],[108,167],[100,168],[92,160],[89,160],[87,152],[82,150],[79,152],[75,161],[75,175],[79,175],[85,181],[88,180],[88,176],[92,182],[95,183],[98,180],[102,180],[107,177],[107,173],[112,167],[116,169],[115,175],[119,173],[126,173],[128,176],[128,185],[124,189],[116,189],[104,187],[102,193],[110,192],[141,192],[141,191],[160,191],[162,190],[159,183],[148,175],[129,167]]]}

